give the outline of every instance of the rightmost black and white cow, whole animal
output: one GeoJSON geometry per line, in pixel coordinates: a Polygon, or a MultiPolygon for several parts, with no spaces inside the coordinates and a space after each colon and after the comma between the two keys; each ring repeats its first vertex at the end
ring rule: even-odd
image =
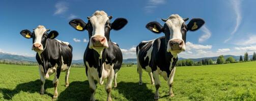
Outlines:
{"type": "Polygon", "coordinates": [[[174,96],[172,85],[175,74],[175,65],[178,61],[178,54],[185,51],[186,33],[188,30],[195,31],[204,25],[203,19],[192,19],[187,25],[179,15],[171,15],[164,21],[163,27],[158,22],[150,22],[146,28],[154,33],[163,32],[165,36],[142,41],[136,47],[139,84],[142,84],[142,70],[147,71],[151,78],[151,83],[155,84],[155,99],[159,99],[158,89],[160,87],[159,75],[167,81],[169,95],[174,96]],[[153,74],[153,75],[152,75],[153,74]],[[153,78],[154,77],[154,78],[153,78]]]}

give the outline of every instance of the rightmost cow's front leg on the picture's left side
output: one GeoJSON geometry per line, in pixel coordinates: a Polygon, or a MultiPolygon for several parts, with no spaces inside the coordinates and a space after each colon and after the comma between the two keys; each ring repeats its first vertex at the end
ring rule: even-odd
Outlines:
{"type": "Polygon", "coordinates": [[[155,78],[155,87],[156,87],[156,93],[155,93],[155,100],[159,99],[159,87],[160,87],[160,80],[159,80],[159,73],[157,71],[153,71],[153,76],[155,78]]]}

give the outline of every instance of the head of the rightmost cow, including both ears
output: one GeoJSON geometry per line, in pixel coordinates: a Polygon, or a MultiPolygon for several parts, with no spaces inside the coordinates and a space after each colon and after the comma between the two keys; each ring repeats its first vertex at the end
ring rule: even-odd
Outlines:
{"type": "Polygon", "coordinates": [[[163,32],[166,39],[166,51],[172,54],[179,54],[186,50],[187,31],[195,31],[205,23],[203,19],[194,18],[186,25],[185,21],[187,20],[188,18],[183,19],[177,14],[170,15],[168,19],[162,19],[165,22],[163,27],[158,22],[150,22],[146,25],[146,28],[154,33],[163,32]]]}

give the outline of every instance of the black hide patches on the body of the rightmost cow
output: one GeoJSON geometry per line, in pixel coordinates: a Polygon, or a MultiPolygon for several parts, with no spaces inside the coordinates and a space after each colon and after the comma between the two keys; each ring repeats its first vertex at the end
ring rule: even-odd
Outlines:
{"type": "Polygon", "coordinates": [[[152,72],[157,70],[157,67],[161,71],[165,71],[167,73],[167,77],[169,77],[171,71],[169,70],[170,63],[172,63],[172,68],[175,67],[178,57],[173,58],[173,55],[171,53],[167,53],[167,42],[165,39],[165,36],[159,37],[154,40],[153,44],[152,41],[148,41],[146,44],[141,42],[137,48],[139,49],[139,52],[137,51],[138,61],[141,66],[141,68],[146,69],[146,66],[151,67],[152,72]],[[150,47],[153,46],[152,53],[151,53],[151,60],[149,60],[148,57],[146,57],[150,47]],[[146,57],[146,59],[145,59],[146,57]],[[172,60],[173,58],[173,60],[172,60]]]}

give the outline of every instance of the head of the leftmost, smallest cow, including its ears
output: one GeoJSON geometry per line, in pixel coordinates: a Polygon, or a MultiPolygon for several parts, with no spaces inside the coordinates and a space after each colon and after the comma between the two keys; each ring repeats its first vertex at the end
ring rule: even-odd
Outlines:
{"type": "Polygon", "coordinates": [[[33,32],[25,29],[22,30],[20,34],[25,38],[33,38],[32,50],[34,50],[37,53],[42,53],[45,48],[46,39],[53,39],[59,35],[57,31],[50,31],[49,34],[47,33],[47,31],[50,30],[46,29],[42,25],[38,25],[36,29],[33,29],[33,32]]]}

